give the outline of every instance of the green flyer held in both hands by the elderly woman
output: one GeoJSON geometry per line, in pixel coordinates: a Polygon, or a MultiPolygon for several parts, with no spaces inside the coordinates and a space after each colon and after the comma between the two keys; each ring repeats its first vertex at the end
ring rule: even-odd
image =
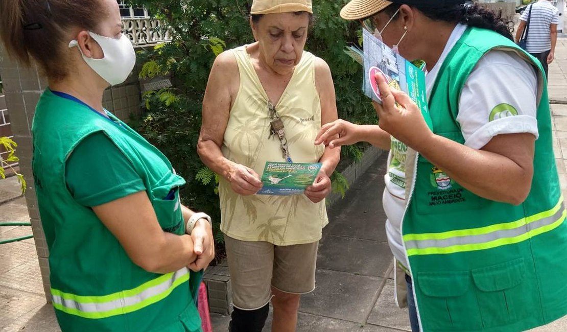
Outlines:
{"type": "Polygon", "coordinates": [[[268,161],[262,174],[264,187],[259,195],[301,195],[312,185],[321,170],[320,163],[276,163],[268,161]]]}

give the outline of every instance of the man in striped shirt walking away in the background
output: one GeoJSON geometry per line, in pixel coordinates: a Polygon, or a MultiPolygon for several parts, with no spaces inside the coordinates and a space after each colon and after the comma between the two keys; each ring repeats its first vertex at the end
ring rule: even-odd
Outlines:
{"type": "Polygon", "coordinates": [[[557,42],[557,24],[559,24],[559,11],[549,0],[539,0],[528,6],[520,16],[520,25],[516,32],[518,42],[524,29],[528,29],[526,50],[539,59],[548,74],[548,65],[555,59],[555,44],[557,42]],[[530,14],[531,9],[531,14],[530,14]],[[527,27],[527,21],[530,26],[527,27]]]}

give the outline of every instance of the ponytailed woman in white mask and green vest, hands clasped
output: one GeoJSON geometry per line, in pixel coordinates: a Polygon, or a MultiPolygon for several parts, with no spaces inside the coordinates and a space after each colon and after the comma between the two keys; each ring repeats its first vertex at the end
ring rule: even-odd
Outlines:
{"type": "Polygon", "coordinates": [[[201,331],[210,218],[180,204],[167,158],[102,105],[136,53],[115,0],[0,2],[0,36],[48,88],[33,117],[33,176],[61,330],[201,331]]]}

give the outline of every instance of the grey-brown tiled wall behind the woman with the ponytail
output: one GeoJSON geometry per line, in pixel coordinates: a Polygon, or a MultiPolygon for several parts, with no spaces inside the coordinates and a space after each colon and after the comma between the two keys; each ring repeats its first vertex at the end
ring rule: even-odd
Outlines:
{"type": "MultiPolygon", "coordinates": [[[[17,154],[20,158],[20,172],[26,177],[28,184],[26,202],[43,278],[43,280],[38,280],[38,282],[43,282],[45,293],[48,295],[50,293],[49,252],[37,210],[37,198],[33,188],[34,181],[31,170],[31,124],[37,101],[47,84],[39,76],[37,69],[24,69],[12,61],[6,55],[1,43],[0,59],[2,59],[0,61],[0,74],[2,75],[5,92],[5,99],[0,98],[0,107],[3,103],[6,103],[7,109],[10,112],[7,120],[11,122],[13,139],[18,143],[17,154]]],[[[112,87],[105,91],[103,105],[124,121],[128,120],[130,113],[137,116],[141,115],[141,98],[136,73],[130,75],[130,78],[122,86],[112,87]]],[[[4,118],[6,118],[5,113],[3,112],[4,118]]],[[[3,118],[0,115],[0,121],[2,120],[3,118]]],[[[50,301],[49,296],[46,296],[46,299],[48,302],[50,301]]]]}

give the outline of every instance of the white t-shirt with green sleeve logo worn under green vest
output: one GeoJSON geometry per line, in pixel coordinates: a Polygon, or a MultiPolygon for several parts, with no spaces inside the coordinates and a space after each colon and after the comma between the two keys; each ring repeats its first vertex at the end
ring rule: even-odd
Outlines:
{"type": "MultiPolygon", "coordinates": [[[[428,96],[448,53],[466,31],[458,24],[439,58],[426,75],[428,96]]],[[[457,122],[465,145],[480,149],[500,134],[530,133],[539,137],[536,120],[538,77],[534,67],[517,54],[493,50],[477,63],[461,91],[457,122]]],[[[432,108],[429,112],[434,113],[432,108]]],[[[407,146],[392,137],[388,156],[386,189],[382,198],[386,235],[394,257],[408,266],[401,239],[401,220],[405,211],[405,156],[407,146]]]]}

